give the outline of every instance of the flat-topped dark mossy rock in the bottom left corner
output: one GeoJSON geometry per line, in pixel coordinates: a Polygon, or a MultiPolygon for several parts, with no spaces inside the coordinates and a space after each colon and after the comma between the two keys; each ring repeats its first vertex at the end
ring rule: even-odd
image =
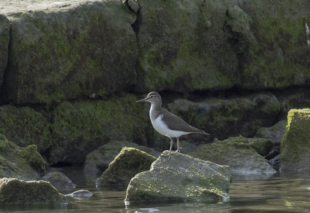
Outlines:
{"type": "Polygon", "coordinates": [[[6,204],[67,204],[67,199],[50,183],[24,181],[16,178],[0,179],[0,203],[6,204]]]}

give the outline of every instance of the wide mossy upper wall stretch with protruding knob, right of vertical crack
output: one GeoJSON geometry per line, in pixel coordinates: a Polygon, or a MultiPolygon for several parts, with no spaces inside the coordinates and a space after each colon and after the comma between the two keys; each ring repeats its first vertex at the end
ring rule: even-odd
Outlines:
{"type": "Polygon", "coordinates": [[[310,80],[307,0],[138,2],[136,91],[255,90],[310,80]]]}

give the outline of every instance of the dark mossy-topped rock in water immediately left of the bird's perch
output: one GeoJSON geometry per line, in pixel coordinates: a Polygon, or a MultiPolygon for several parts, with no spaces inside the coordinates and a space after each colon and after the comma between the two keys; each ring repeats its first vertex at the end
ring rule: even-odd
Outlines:
{"type": "Polygon", "coordinates": [[[156,159],[139,149],[124,147],[101,175],[97,184],[128,185],[136,174],[149,170],[156,159]]]}

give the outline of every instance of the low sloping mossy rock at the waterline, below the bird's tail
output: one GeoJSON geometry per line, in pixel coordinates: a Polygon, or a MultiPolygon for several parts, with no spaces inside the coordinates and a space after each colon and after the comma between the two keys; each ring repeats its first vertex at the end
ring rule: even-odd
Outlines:
{"type": "Polygon", "coordinates": [[[252,146],[247,138],[240,136],[202,145],[189,155],[220,165],[228,165],[233,172],[274,174],[275,169],[252,146]]]}

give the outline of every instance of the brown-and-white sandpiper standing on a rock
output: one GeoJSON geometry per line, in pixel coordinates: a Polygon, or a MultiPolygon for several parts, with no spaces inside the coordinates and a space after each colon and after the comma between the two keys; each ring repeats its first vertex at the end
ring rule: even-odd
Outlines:
{"type": "Polygon", "coordinates": [[[178,156],[181,153],[181,148],[179,144],[179,136],[187,135],[190,133],[200,133],[204,135],[209,135],[205,131],[197,129],[193,126],[190,126],[183,119],[178,116],[170,113],[168,110],[162,108],[162,97],[157,92],[150,92],[146,96],[146,98],[136,101],[144,102],[147,101],[151,103],[150,109],[150,118],[154,129],[162,135],[165,135],[170,138],[170,149],[168,154],[161,154],[161,156],[168,156],[168,160],[170,158],[170,154],[178,153],[178,156]],[[178,149],[176,151],[172,150],[173,140],[172,138],[177,139],[178,149]]]}

